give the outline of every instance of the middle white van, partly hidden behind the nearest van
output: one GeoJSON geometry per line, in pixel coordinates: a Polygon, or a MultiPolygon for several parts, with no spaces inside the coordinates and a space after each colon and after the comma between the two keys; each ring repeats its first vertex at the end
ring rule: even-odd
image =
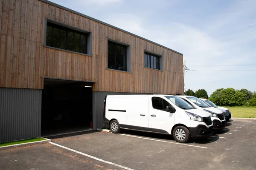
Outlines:
{"type": "Polygon", "coordinates": [[[198,108],[201,111],[205,111],[209,113],[212,119],[214,130],[222,130],[226,127],[226,119],[222,111],[207,105],[205,102],[203,102],[202,100],[198,99],[195,96],[179,96],[179,97],[189,102],[195,108],[198,108]]]}

